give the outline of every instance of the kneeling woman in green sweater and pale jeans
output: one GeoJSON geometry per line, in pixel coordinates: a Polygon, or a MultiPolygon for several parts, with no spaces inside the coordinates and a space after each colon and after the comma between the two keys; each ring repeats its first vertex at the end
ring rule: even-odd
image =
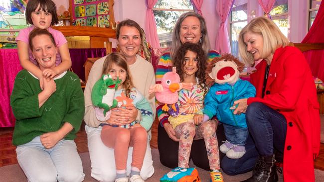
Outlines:
{"type": "MultiPolygon", "coordinates": [[[[55,65],[57,47],[52,34],[34,29],[29,47],[41,71],[55,65]]],[[[10,104],[16,117],[12,143],[17,160],[30,182],[82,182],[80,156],[74,139],[84,115],[80,79],[65,71],[53,79],[20,71],[14,82],[10,104]]]]}

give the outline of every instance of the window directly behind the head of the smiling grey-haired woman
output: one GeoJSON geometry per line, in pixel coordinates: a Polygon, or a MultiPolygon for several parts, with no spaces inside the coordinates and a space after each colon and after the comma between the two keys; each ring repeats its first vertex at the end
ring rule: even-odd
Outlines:
{"type": "Polygon", "coordinates": [[[161,47],[171,47],[172,31],[178,17],[193,11],[190,0],[158,0],[153,8],[161,47]]]}

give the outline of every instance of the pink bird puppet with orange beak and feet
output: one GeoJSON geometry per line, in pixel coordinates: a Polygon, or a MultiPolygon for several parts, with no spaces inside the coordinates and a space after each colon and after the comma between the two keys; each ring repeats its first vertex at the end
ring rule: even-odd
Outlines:
{"type": "Polygon", "coordinates": [[[175,103],[178,101],[178,91],[181,89],[191,90],[193,84],[180,83],[180,77],[176,73],[176,68],[172,68],[172,72],[167,72],[163,75],[161,84],[152,86],[149,93],[156,92],[157,100],[164,103],[162,110],[168,111],[167,104],[172,104],[171,108],[176,111],[175,103]]]}

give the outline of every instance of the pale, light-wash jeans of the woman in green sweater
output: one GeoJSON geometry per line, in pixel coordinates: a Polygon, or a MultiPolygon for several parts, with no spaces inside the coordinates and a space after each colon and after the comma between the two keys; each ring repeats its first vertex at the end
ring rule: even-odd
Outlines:
{"type": "Polygon", "coordinates": [[[60,140],[45,149],[39,136],[16,148],[17,160],[28,182],[82,182],[81,158],[73,140],[60,140]]]}

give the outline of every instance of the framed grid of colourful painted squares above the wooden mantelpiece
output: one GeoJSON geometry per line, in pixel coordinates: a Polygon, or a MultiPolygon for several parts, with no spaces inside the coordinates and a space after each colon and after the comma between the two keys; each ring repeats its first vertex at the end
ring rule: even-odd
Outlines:
{"type": "Polygon", "coordinates": [[[77,26],[109,27],[107,0],[72,0],[72,14],[77,26]]]}

